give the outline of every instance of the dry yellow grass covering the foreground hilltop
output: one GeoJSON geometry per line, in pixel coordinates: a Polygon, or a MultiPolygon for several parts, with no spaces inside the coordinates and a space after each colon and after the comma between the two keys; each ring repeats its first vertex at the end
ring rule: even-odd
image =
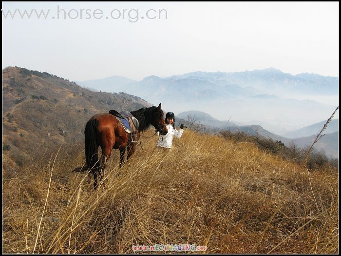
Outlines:
{"type": "Polygon", "coordinates": [[[338,173],[308,172],[253,144],[189,130],[169,153],[153,151],[155,143],[142,138],[144,151],[138,146],[122,169],[113,151],[96,192],[93,179],[71,173],[84,163],[80,145],[4,178],[3,253],[186,243],[207,253],[339,252],[338,173]]]}

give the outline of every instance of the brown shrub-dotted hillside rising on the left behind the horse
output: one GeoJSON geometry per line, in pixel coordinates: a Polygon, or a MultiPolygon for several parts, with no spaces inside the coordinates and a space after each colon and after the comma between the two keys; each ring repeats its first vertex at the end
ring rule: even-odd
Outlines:
{"type": "Polygon", "coordinates": [[[2,162],[11,172],[37,149],[83,141],[85,123],[97,113],[151,106],[126,93],[92,92],[67,79],[18,67],[2,71],[2,100],[2,162]]]}

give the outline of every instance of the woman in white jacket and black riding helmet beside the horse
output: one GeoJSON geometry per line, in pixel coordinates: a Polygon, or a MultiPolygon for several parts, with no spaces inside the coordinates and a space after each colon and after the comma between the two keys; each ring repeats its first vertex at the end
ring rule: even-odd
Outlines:
{"type": "MultiPolygon", "coordinates": [[[[184,132],[184,124],[180,125],[179,131],[175,129],[175,118],[173,112],[168,112],[166,114],[166,120],[165,120],[166,126],[168,128],[168,133],[166,135],[159,136],[159,140],[157,142],[157,146],[159,148],[171,148],[171,144],[173,141],[174,136],[177,138],[180,138],[182,133],[184,132]]],[[[157,132],[157,135],[159,135],[159,132],[157,132]]]]}

